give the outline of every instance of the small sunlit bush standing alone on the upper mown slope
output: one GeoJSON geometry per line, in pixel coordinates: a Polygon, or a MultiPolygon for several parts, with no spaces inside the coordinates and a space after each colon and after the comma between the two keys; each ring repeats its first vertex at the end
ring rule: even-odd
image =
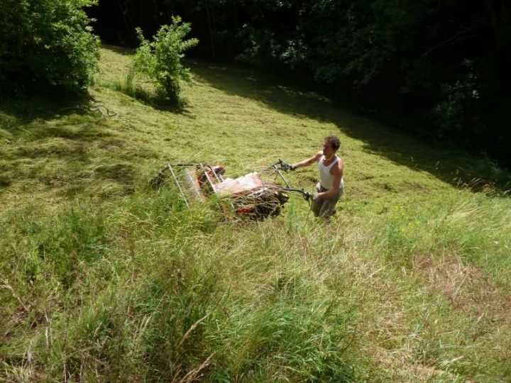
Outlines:
{"type": "Polygon", "coordinates": [[[182,23],[179,16],[172,17],[172,24],[162,26],[150,42],[143,37],[141,28],[137,28],[141,46],[133,57],[135,71],[148,77],[158,94],[171,101],[179,100],[180,80],[192,80],[192,74],[181,64],[182,52],[199,43],[196,38],[183,40],[190,29],[190,24],[182,23]]]}

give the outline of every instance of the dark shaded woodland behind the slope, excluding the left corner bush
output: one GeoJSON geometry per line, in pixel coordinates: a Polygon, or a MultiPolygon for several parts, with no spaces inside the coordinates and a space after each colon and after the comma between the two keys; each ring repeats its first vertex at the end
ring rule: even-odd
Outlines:
{"type": "Polygon", "coordinates": [[[91,11],[101,38],[123,44],[178,14],[201,42],[190,54],[305,72],[437,135],[511,152],[509,1],[104,0],[91,11]]]}

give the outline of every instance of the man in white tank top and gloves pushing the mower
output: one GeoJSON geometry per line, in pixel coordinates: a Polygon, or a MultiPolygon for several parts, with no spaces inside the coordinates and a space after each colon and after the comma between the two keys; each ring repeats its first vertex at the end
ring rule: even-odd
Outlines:
{"type": "Polygon", "coordinates": [[[329,218],[336,212],[336,204],[344,191],[344,164],[336,152],[341,146],[341,141],[335,135],[329,135],[324,139],[323,150],[308,160],[303,160],[291,165],[291,170],[297,167],[305,167],[314,163],[318,164],[319,182],[316,192],[312,196],[311,210],[314,216],[329,218]]]}

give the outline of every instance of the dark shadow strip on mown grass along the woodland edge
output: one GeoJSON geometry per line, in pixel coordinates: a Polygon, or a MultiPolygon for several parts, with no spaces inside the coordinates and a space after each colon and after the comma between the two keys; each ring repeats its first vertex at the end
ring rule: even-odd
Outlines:
{"type": "MultiPolygon", "coordinates": [[[[396,164],[429,172],[450,184],[468,182],[473,191],[480,191],[485,184],[501,193],[511,187],[511,173],[488,157],[431,136],[407,132],[405,126],[379,123],[374,111],[365,111],[347,101],[333,101],[332,97],[322,96],[326,94],[324,89],[311,90],[312,85],[303,79],[196,60],[188,61],[187,65],[198,79],[226,94],[257,99],[280,113],[334,123],[342,133],[362,140],[366,152],[396,164]]],[[[400,116],[395,120],[405,123],[400,116]]]]}

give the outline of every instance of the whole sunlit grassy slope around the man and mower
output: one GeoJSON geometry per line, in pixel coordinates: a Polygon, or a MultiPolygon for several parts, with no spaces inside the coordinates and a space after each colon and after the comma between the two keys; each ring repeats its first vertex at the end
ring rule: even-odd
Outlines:
{"type": "Polygon", "coordinates": [[[237,68],[190,63],[187,106],[153,107],[113,90],[128,60],[103,54],[90,93],[116,116],[0,110],[0,377],[511,379],[511,202],[454,182],[505,174],[237,68]],[[328,134],[346,192],[327,224],[299,199],[223,223],[146,187],[167,160],[241,174],[328,134]]]}

